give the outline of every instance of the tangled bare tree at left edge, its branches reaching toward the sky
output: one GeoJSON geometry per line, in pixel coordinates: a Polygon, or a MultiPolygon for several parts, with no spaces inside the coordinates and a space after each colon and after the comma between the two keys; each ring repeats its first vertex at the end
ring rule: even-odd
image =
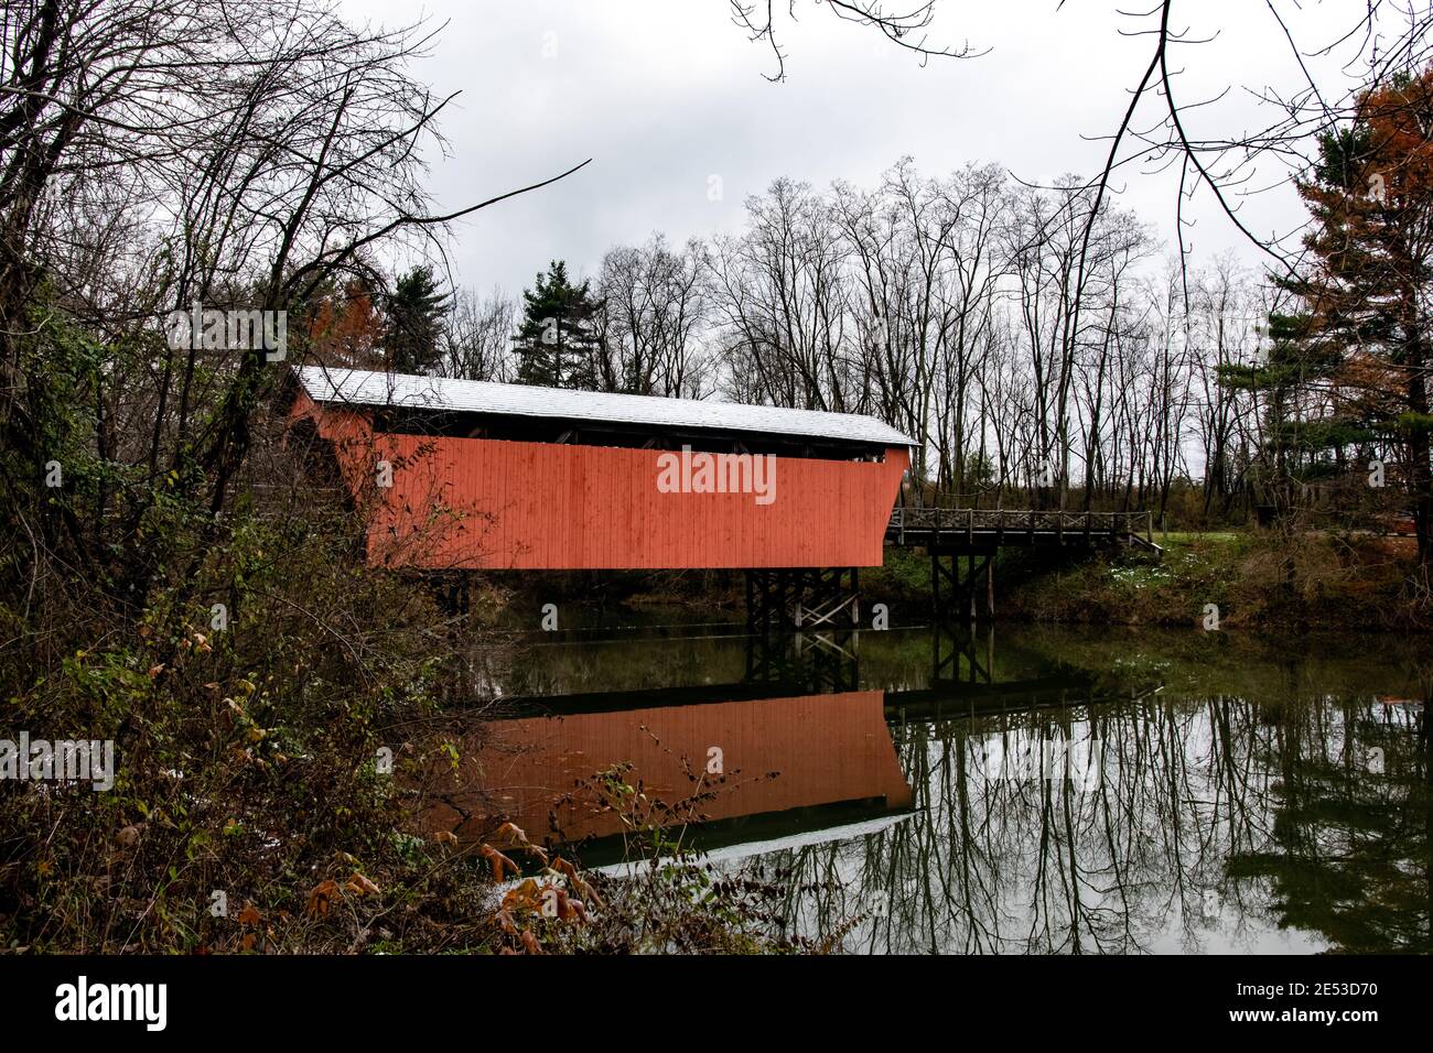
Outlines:
{"type": "Polygon", "coordinates": [[[380,246],[437,246],[523,191],[427,208],[420,149],[451,96],[408,73],[421,26],[354,29],[294,0],[20,0],[0,17],[3,514],[27,552],[118,559],[100,580],[140,600],[172,554],[140,523],[160,496],[224,509],[282,375],[267,348],[176,347],[160,319],[195,302],[301,318],[344,279],[380,285],[380,246]],[[93,407],[87,428],[72,405],[93,407]],[[59,458],[103,483],[43,494],[59,458]]]}

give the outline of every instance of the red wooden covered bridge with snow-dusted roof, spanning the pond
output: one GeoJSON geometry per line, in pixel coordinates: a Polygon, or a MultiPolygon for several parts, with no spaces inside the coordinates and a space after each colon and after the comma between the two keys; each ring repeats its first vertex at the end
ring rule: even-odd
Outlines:
{"type": "Polygon", "coordinates": [[[873,417],[311,365],[292,413],[433,570],[878,566],[913,440],[873,417]]]}

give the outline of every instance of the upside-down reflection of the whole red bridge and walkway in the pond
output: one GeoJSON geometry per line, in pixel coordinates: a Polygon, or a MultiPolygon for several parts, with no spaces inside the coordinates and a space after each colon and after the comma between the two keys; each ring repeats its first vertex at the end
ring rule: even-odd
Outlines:
{"type": "Polygon", "coordinates": [[[792,643],[747,638],[747,679],[734,683],[509,698],[481,738],[460,748],[459,771],[434,771],[426,784],[426,824],[483,840],[512,821],[535,842],[579,842],[588,865],[620,860],[626,827],[602,805],[595,776],[631,765],[622,779],[668,807],[652,815],[653,825],[691,827],[689,844],[747,852],[792,837],[824,841],[919,807],[901,761],[901,728],[959,722],[973,734],[1029,731],[1158,689],[1138,676],[1032,666],[1029,656],[1016,658],[1015,679],[997,679],[993,632],[936,630],[920,686],[860,691],[854,640],[840,653],[792,652],[792,643]],[[698,782],[714,748],[727,778],[698,782]],[[671,808],[706,789],[715,792],[692,809],[671,808]]]}

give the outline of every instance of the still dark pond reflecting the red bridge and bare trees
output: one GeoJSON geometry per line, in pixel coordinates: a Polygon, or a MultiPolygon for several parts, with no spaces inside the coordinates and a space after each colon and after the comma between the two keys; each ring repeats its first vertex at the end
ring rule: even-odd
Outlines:
{"type": "Polygon", "coordinates": [[[1423,640],[663,622],[494,663],[460,835],[665,827],[856,953],[1433,948],[1423,640]]]}

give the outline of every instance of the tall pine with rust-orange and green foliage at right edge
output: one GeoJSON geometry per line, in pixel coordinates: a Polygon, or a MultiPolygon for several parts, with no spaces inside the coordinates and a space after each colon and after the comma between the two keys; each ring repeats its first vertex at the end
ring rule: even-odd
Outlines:
{"type": "Polygon", "coordinates": [[[1396,451],[1419,556],[1433,556],[1427,371],[1433,348],[1433,69],[1364,92],[1358,119],[1330,129],[1307,179],[1307,264],[1274,281],[1295,314],[1274,315],[1268,364],[1225,383],[1268,391],[1283,477],[1343,468],[1350,447],[1396,451]],[[1294,413],[1317,405],[1311,420],[1294,413]]]}

